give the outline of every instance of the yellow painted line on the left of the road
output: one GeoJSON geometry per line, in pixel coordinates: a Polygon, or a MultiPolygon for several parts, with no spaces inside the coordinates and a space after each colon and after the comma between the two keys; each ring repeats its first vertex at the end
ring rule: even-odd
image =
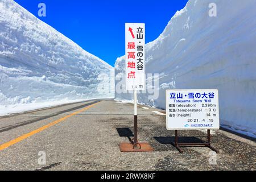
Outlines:
{"type": "Polygon", "coordinates": [[[6,148],[8,148],[10,146],[13,146],[15,143],[18,143],[18,142],[20,142],[20,141],[22,141],[22,140],[24,140],[24,139],[26,139],[28,137],[31,137],[32,135],[40,133],[41,131],[48,129],[49,127],[54,126],[57,123],[60,123],[61,121],[64,121],[65,119],[72,117],[73,115],[79,114],[82,111],[90,109],[90,107],[93,107],[93,106],[95,106],[95,105],[97,105],[99,103],[100,102],[97,102],[96,104],[89,105],[89,106],[85,107],[84,109],[82,109],[80,111],[76,111],[75,113],[69,114],[69,115],[65,116],[64,118],[57,119],[56,121],[53,121],[53,122],[49,123],[48,125],[40,127],[39,129],[36,129],[34,131],[31,131],[30,133],[24,134],[24,135],[22,135],[22,136],[20,136],[20,137],[18,137],[16,139],[11,140],[10,142],[1,144],[0,145],[0,151],[5,150],[6,148]]]}

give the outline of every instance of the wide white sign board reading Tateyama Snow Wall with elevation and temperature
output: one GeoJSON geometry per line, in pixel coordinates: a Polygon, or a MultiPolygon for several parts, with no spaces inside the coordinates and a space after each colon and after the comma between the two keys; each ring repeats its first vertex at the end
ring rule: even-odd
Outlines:
{"type": "Polygon", "coordinates": [[[166,90],[167,130],[220,129],[218,90],[166,90]]]}

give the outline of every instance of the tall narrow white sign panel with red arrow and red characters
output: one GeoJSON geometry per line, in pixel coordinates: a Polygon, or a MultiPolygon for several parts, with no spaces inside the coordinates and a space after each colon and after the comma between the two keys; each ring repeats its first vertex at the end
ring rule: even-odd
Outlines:
{"type": "Polygon", "coordinates": [[[126,90],[145,89],[145,24],[125,24],[126,90]]]}

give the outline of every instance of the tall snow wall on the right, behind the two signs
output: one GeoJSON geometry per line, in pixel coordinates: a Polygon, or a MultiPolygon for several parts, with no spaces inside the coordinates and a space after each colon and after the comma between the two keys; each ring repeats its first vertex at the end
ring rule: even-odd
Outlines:
{"type": "MultiPolygon", "coordinates": [[[[256,11],[254,0],[189,0],[158,39],[146,45],[146,73],[159,73],[159,97],[146,105],[165,109],[166,89],[218,89],[221,125],[256,137],[256,11]],[[209,4],[216,3],[217,17],[209,4]]],[[[125,72],[115,63],[115,84],[125,72]]],[[[115,93],[117,100],[132,94],[115,93]]]]}

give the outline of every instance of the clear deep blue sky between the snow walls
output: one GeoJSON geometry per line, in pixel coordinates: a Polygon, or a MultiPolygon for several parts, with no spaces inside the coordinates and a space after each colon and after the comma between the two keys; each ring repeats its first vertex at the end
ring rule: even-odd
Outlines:
{"type": "Polygon", "coordinates": [[[114,66],[125,55],[125,23],[146,23],[146,43],[188,0],[15,0],[86,51],[114,66]],[[46,17],[38,4],[46,4],[46,17]]]}

